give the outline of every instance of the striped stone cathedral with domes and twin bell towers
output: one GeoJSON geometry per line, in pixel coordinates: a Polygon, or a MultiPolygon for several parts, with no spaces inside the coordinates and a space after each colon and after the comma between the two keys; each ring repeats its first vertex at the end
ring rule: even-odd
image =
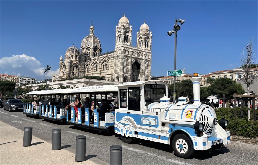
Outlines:
{"type": "Polygon", "coordinates": [[[94,26],[81,41],[78,49],[74,45],[66,50],[59,62],[59,74],[53,81],[72,77],[100,76],[107,81],[131,82],[151,78],[152,33],[145,23],[136,34],[136,47],[132,46],[132,25],[122,17],[116,25],[115,49],[102,53],[101,43],[94,35],[94,26]]]}

